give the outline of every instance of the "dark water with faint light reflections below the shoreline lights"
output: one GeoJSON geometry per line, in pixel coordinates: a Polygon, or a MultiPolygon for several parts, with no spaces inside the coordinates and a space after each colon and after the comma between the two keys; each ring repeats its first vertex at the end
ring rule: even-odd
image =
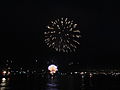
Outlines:
{"type": "Polygon", "coordinates": [[[1,78],[0,90],[120,90],[120,76],[14,76],[1,78]]]}

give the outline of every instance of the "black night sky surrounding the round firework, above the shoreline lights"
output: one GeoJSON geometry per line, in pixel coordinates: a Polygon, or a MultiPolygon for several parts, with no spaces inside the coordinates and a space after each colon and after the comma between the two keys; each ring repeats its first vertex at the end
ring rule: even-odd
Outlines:
{"type": "Polygon", "coordinates": [[[27,63],[54,59],[88,66],[120,66],[119,5],[109,0],[29,0],[2,7],[0,57],[27,63]],[[14,5],[13,5],[14,4],[14,5]],[[77,20],[82,34],[75,53],[58,53],[44,43],[44,31],[54,18],[77,20]]]}

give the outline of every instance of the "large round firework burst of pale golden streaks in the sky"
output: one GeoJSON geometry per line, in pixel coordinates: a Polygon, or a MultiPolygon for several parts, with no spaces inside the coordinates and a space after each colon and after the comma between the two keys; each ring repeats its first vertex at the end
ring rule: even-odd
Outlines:
{"type": "Polygon", "coordinates": [[[58,52],[73,52],[80,45],[78,25],[68,18],[59,18],[50,22],[44,32],[45,43],[58,52]]]}

